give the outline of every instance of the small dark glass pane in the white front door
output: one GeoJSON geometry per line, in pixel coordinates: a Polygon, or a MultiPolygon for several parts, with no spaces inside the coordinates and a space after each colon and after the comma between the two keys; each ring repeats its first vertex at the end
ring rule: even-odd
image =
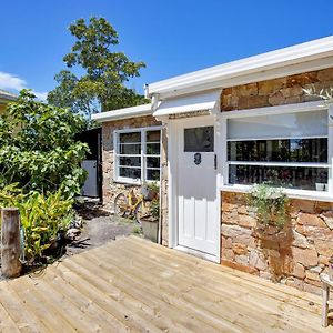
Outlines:
{"type": "Polygon", "coordinates": [[[184,130],[185,152],[211,152],[214,151],[214,128],[193,128],[184,130]]]}

